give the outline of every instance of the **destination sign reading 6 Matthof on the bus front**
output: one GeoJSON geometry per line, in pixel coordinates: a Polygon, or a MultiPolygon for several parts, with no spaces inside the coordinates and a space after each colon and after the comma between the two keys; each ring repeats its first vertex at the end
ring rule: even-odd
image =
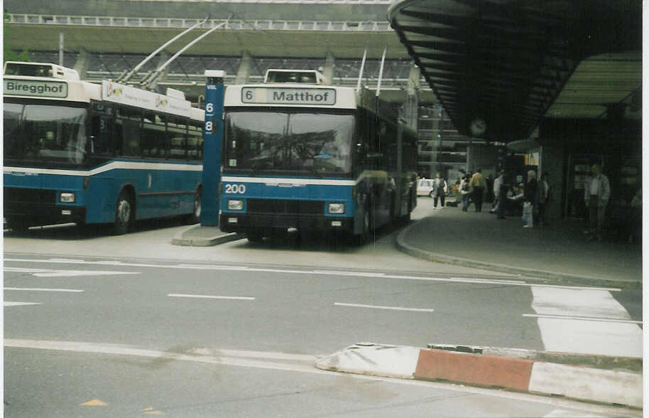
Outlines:
{"type": "Polygon", "coordinates": [[[262,104],[336,104],[336,90],[300,87],[244,87],[241,102],[262,104]]]}

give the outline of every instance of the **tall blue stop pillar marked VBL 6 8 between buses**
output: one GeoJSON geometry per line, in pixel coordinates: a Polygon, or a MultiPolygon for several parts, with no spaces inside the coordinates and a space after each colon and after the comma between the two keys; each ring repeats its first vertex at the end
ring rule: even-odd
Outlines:
{"type": "Polygon", "coordinates": [[[223,142],[225,71],[205,70],[205,125],[203,127],[203,188],[200,224],[219,226],[219,183],[223,142]]]}

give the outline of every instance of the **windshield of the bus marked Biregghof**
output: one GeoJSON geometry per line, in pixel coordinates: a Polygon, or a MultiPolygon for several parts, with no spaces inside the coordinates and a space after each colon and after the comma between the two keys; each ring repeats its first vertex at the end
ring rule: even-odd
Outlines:
{"type": "Polygon", "coordinates": [[[81,164],[87,109],[60,104],[4,103],[4,158],[81,164]]]}

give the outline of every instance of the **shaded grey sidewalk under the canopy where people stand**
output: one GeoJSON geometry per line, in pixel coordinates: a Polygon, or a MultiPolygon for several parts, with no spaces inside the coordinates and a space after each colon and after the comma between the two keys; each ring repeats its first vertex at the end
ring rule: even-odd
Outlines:
{"type": "Polygon", "coordinates": [[[588,241],[582,220],[554,220],[523,228],[520,218],[498,220],[489,213],[457,207],[432,208],[420,199],[425,218],[410,223],[397,247],[415,257],[561,282],[642,287],[642,247],[627,242],[588,241]],[[427,208],[425,206],[428,206],[427,208]]]}

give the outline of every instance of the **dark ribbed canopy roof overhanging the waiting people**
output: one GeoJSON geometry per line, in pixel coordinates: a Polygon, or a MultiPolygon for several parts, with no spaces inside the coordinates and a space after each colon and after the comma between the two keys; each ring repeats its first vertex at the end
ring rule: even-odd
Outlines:
{"type": "Polygon", "coordinates": [[[639,97],[641,10],[640,0],[395,0],[388,20],[459,132],[508,142],[544,116],[606,117],[639,97]]]}

